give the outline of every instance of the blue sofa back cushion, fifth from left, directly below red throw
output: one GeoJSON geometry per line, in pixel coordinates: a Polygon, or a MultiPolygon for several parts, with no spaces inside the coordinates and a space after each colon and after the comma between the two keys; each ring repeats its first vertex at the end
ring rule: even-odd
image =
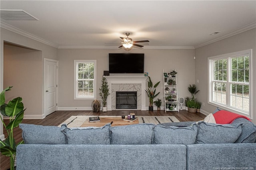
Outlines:
{"type": "Polygon", "coordinates": [[[241,124],[198,123],[196,144],[234,143],[242,132],[241,124]]]}

